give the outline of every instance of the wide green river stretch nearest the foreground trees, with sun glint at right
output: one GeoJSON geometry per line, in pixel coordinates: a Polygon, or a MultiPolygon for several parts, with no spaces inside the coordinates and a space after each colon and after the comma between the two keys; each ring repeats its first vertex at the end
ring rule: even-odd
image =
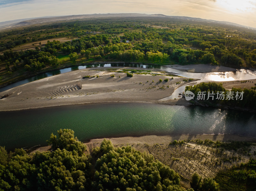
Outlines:
{"type": "Polygon", "coordinates": [[[256,114],[207,107],[101,103],[0,112],[0,120],[0,145],[8,150],[46,145],[60,128],[74,130],[80,141],[181,134],[256,138],[256,114]]]}

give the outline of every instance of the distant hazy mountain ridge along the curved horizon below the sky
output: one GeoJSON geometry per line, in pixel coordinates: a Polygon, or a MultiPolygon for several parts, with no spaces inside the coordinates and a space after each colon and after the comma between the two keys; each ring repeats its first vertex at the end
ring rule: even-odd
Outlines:
{"type": "Polygon", "coordinates": [[[33,24],[42,24],[47,22],[54,21],[64,21],[64,20],[75,20],[75,19],[83,19],[83,18],[102,18],[102,17],[164,17],[178,20],[191,20],[191,21],[199,21],[199,22],[210,22],[210,23],[219,23],[231,26],[238,26],[247,29],[256,30],[256,28],[243,26],[236,23],[228,22],[228,21],[216,21],[211,19],[203,19],[203,18],[193,18],[193,17],[185,17],[185,16],[167,16],[163,14],[141,14],[141,13],[107,13],[107,14],[85,14],[85,15],[69,15],[69,16],[57,16],[57,17],[39,17],[39,18],[25,18],[25,19],[17,19],[12,21],[4,21],[0,22],[0,29],[8,29],[16,26],[28,26],[33,24]]]}

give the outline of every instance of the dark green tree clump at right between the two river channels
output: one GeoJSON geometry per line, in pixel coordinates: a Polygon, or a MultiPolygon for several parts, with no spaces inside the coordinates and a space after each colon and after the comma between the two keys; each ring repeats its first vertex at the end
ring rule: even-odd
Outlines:
{"type": "Polygon", "coordinates": [[[209,106],[256,110],[256,91],[253,89],[233,87],[231,90],[226,90],[221,83],[202,82],[194,86],[186,86],[186,91],[195,94],[196,102],[209,106]]]}

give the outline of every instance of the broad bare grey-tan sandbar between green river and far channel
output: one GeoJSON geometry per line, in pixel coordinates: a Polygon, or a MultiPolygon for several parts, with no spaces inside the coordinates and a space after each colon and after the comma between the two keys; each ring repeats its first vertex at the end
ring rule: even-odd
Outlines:
{"type": "MultiPolygon", "coordinates": [[[[137,70],[143,69],[137,68],[137,70]]],[[[133,77],[126,77],[126,73],[99,71],[99,69],[76,70],[1,92],[2,96],[7,93],[11,93],[11,95],[0,99],[0,111],[101,102],[146,102],[188,106],[190,102],[185,99],[160,100],[172,95],[178,87],[188,84],[183,79],[186,78],[173,77],[172,79],[170,76],[150,74],[134,74],[133,77]],[[114,74],[115,77],[110,77],[111,74],[114,74]],[[99,75],[99,78],[83,79],[82,77],[86,75],[99,75]],[[163,80],[168,78],[169,81],[159,83],[160,78],[163,80]]],[[[192,82],[196,81],[197,79],[194,79],[192,82]]],[[[251,88],[254,83],[256,83],[256,79],[243,84],[240,81],[223,82],[223,85],[227,89],[232,87],[251,88]]]]}

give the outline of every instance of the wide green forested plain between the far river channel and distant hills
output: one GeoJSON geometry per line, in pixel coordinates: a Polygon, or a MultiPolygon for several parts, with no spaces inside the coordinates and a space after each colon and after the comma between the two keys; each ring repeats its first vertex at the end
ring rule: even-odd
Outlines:
{"type": "Polygon", "coordinates": [[[255,37],[249,29],[166,18],[99,18],[20,27],[0,32],[0,84],[95,61],[255,68],[255,37]],[[22,50],[27,45],[33,46],[22,50]]]}

